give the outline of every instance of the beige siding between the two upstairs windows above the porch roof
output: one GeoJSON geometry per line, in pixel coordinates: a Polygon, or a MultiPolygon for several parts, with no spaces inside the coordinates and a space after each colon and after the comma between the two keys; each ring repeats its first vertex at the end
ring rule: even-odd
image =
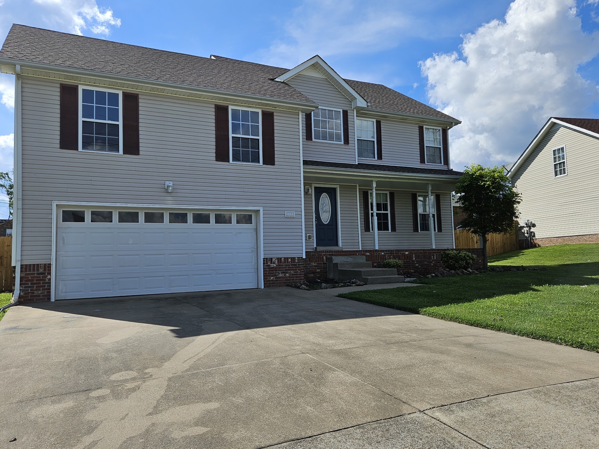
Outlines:
{"type": "MultiPolygon", "coordinates": [[[[357,118],[360,119],[361,117],[358,116],[357,118]]],[[[360,158],[358,162],[407,167],[447,168],[447,165],[420,163],[420,142],[418,141],[418,125],[416,123],[384,119],[380,122],[383,159],[360,158]]]]}

